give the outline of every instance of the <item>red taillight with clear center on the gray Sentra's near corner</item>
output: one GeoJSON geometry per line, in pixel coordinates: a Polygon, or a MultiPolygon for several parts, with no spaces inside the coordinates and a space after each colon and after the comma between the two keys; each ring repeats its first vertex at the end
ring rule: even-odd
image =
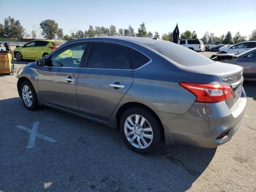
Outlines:
{"type": "Polygon", "coordinates": [[[180,85],[196,96],[196,102],[214,103],[232,97],[229,85],[180,82],[180,85]]]}

